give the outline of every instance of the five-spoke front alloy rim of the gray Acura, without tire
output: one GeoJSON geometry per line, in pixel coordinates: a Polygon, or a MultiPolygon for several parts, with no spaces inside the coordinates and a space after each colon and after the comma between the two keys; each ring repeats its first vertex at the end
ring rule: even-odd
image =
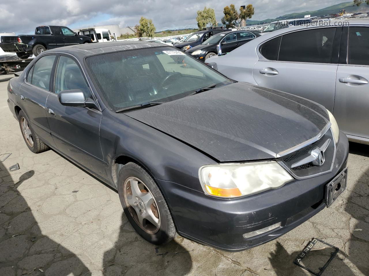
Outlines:
{"type": "Polygon", "coordinates": [[[146,233],[155,234],[160,228],[160,213],[155,198],[145,183],[136,177],[124,182],[124,199],[127,208],[146,233]]]}

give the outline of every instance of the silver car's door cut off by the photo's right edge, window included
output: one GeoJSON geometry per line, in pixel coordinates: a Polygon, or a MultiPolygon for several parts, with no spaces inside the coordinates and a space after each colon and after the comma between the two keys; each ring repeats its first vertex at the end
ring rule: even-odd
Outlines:
{"type": "Polygon", "coordinates": [[[346,134],[369,139],[369,27],[344,27],[341,45],[333,114],[346,134]]]}

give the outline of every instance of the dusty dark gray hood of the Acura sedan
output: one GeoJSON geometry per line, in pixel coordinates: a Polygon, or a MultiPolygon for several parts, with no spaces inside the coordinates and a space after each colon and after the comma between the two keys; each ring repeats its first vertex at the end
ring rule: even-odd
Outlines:
{"type": "Polygon", "coordinates": [[[328,123],[323,106],[242,82],[125,114],[219,162],[276,158],[328,123]]]}

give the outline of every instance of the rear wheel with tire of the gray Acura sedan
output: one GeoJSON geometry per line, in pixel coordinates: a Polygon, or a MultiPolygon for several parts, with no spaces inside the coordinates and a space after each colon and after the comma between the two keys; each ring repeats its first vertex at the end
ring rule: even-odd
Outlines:
{"type": "Polygon", "coordinates": [[[24,142],[28,146],[31,152],[40,153],[47,151],[49,147],[42,142],[37,134],[32,129],[27,116],[25,116],[23,110],[18,114],[19,126],[23,134],[24,142]]]}

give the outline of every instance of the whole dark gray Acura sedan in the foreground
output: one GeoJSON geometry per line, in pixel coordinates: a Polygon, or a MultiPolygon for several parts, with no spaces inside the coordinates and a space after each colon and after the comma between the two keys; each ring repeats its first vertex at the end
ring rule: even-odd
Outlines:
{"type": "Polygon", "coordinates": [[[40,54],[10,80],[28,148],[118,190],[154,244],[176,233],[237,251],[273,240],[345,190],[348,140],[323,106],[228,79],[154,42],[40,54]]]}

